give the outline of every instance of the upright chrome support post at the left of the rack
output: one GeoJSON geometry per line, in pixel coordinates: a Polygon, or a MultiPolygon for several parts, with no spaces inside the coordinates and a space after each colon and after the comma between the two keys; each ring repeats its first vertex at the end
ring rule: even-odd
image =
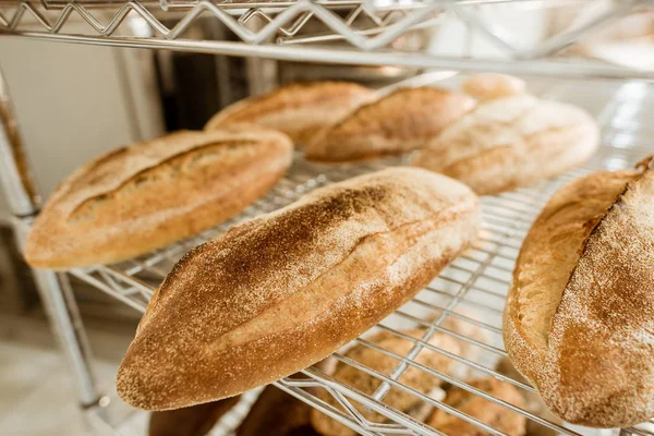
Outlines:
{"type": "MultiPolygon", "coordinates": [[[[13,214],[14,234],[22,252],[29,223],[38,214],[40,196],[29,171],[9,88],[1,69],[0,185],[13,214]]],[[[63,350],[76,382],[80,402],[83,407],[94,405],[99,395],[90,365],[90,348],[68,276],[45,269],[33,269],[33,275],[51,330],[63,350]]]]}

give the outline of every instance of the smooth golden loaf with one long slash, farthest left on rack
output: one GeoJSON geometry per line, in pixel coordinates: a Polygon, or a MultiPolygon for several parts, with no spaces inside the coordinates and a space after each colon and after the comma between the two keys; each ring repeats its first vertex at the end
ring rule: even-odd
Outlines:
{"type": "Polygon", "coordinates": [[[36,268],[109,264],[206,230],[264,195],[292,144],[270,130],[182,131],[119,148],[57,187],[34,221],[36,268]]]}

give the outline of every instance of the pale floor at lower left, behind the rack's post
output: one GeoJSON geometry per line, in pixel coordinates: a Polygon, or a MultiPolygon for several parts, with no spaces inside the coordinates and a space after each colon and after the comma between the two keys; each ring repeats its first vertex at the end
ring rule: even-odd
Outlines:
{"type": "MultiPolygon", "coordinates": [[[[105,387],[113,384],[133,326],[87,325],[95,372],[105,387]]],[[[63,356],[41,317],[0,315],[0,434],[11,436],[102,435],[89,431],[77,405],[63,356]]]]}

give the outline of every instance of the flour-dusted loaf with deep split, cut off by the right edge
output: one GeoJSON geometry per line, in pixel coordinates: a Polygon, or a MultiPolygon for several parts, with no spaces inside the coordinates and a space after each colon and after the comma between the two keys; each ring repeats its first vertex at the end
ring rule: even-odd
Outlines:
{"type": "Polygon", "coordinates": [[[504,316],[507,352],[571,423],[654,416],[654,171],[570,183],[531,228],[504,316]]]}

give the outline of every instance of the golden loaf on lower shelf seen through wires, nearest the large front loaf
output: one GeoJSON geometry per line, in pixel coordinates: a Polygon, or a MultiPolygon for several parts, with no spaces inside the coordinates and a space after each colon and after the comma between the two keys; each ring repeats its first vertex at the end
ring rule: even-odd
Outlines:
{"type": "MultiPolygon", "coordinates": [[[[424,331],[412,330],[407,331],[405,334],[415,338],[420,338],[424,331]]],[[[410,340],[402,339],[385,331],[373,336],[368,340],[384,350],[402,356],[407,355],[409,350],[411,350],[414,344],[414,342],[410,340]]],[[[460,348],[457,343],[458,341],[451,336],[436,334],[428,342],[429,344],[452,354],[460,353],[460,348]]],[[[397,359],[363,344],[358,344],[349,350],[346,353],[346,356],[384,375],[389,375],[400,363],[397,359]]],[[[415,362],[441,373],[447,373],[453,363],[452,360],[444,354],[439,354],[427,349],[421,351],[417,358],[415,358],[415,362]]],[[[382,380],[379,378],[373,377],[367,373],[364,373],[363,371],[342,362],[339,362],[336,366],[334,378],[367,395],[372,395],[382,385],[382,380]]],[[[409,366],[399,378],[399,382],[422,393],[428,393],[432,389],[440,385],[439,378],[420,368],[416,368],[415,366],[409,366]]],[[[324,389],[318,391],[318,398],[335,408],[342,409],[334,396],[324,389]]],[[[384,402],[396,410],[410,413],[412,410],[419,409],[422,400],[413,393],[407,392],[397,387],[391,387],[384,398],[384,402]]],[[[366,410],[360,403],[353,402],[353,405],[356,408],[359,413],[361,413],[371,422],[383,423],[387,421],[386,416],[377,412],[366,410]]],[[[314,428],[324,436],[354,436],[356,434],[350,427],[347,427],[338,421],[332,420],[316,409],[312,411],[311,422],[314,428]]]]}

